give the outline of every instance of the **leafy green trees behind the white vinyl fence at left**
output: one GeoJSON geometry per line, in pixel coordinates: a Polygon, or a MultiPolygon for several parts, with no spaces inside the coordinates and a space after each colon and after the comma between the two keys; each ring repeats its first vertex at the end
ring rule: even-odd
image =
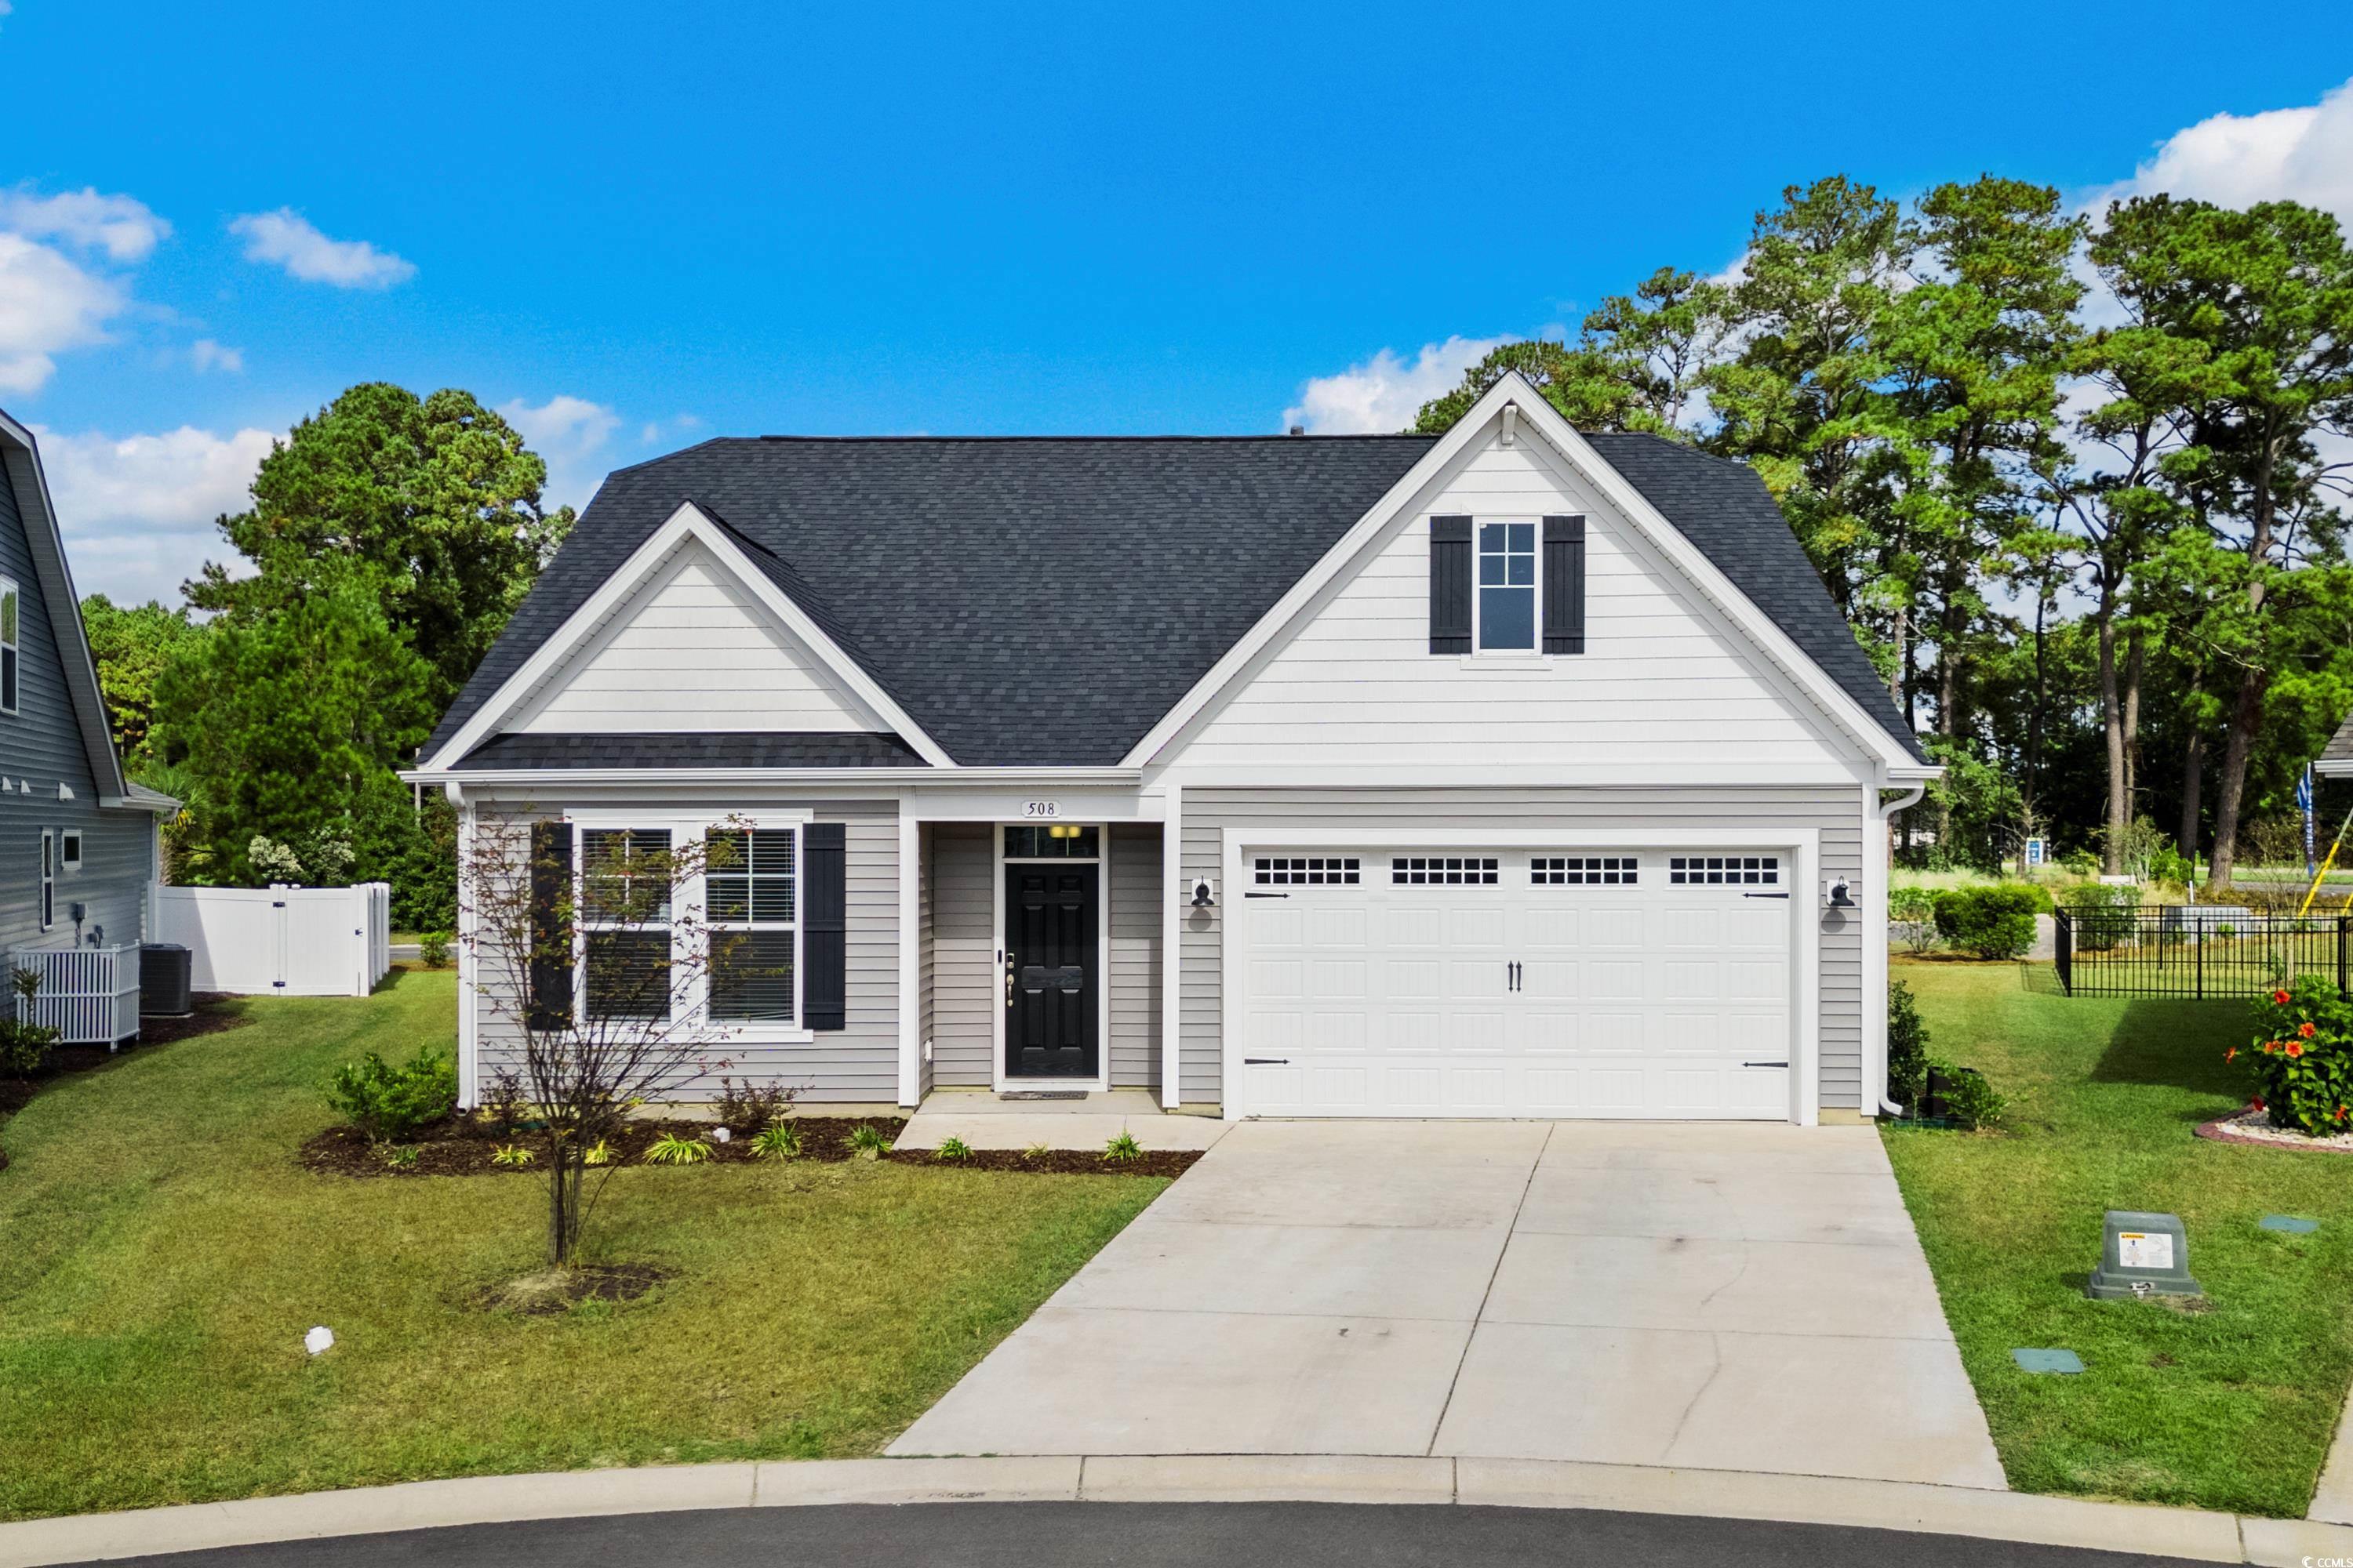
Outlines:
{"type": "Polygon", "coordinates": [[[186,802],[181,884],[391,882],[393,924],[456,924],[456,823],[395,776],[572,527],[546,463],[473,395],[346,390],[219,520],[235,562],[184,602],[82,602],[115,741],[186,802]]]}

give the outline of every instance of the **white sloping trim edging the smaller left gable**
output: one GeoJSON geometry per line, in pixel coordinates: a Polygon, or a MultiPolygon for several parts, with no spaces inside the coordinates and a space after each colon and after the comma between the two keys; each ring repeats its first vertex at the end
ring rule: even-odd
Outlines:
{"type": "Polygon", "coordinates": [[[816,621],[809,618],[800,604],[793,602],[776,583],[769,581],[765,571],[751,564],[744,550],[727,536],[722,527],[711,522],[701,508],[692,501],[682,501],[671,520],[654,529],[652,538],[638,545],[626,562],[621,562],[612,576],[607,576],[588,602],[574,609],[565,623],[522,661],[506,682],[466,719],[464,726],[449,743],[433,752],[424,766],[416,769],[419,776],[433,776],[442,769],[456,764],[466,752],[478,748],[482,741],[496,733],[499,724],[506,722],[522,703],[539,689],[539,684],[553,675],[572,654],[576,654],[598,632],[607,616],[612,616],[647,578],[678,550],[685,541],[696,541],[711,550],[727,571],[732,571],[746,592],[751,592],[769,614],[784,621],[786,630],[793,632],[807,649],[826,665],[826,670],[840,679],[849,691],[856,693],[861,703],[882,715],[882,722],[899,733],[901,741],[915,748],[915,752],[936,769],[953,769],[955,759],[932,736],[922,731],[915,719],[906,715],[904,708],[866,672],[859,661],[849,658],[847,651],[816,621]]]}

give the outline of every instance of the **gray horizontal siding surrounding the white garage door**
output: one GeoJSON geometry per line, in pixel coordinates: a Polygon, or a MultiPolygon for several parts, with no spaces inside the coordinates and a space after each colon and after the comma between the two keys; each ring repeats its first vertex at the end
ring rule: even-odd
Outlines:
{"type": "MultiPolygon", "coordinates": [[[[1224,879],[1224,835],[1252,823],[1381,832],[1642,832],[1819,830],[1821,875],[1861,882],[1864,804],[1857,788],[1668,788],[1668,790],[1207,790],[1184,792],[1184,875],[1224,879]]],[[[1240,889],[1219,886],[1228,905],[1240,889]]],[[[1814,889],[1793,893],[1819,910],[1814,889]]],[[[1221,1100],[1226,910],[1188,912],[1184,922],[1181,1088],[1186,1105],[1221,1100]]],[[[1866,922],[1821,910],[1821,1105],[1859,1107],[1864,1079],[1864,936],[1866,922]]]]}

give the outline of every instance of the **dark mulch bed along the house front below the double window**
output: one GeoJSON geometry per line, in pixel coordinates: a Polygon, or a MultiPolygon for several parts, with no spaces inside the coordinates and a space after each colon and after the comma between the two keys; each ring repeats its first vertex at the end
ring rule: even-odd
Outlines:
{"type": "MultiPolygon", "coordinates": [[[[654,1147],[654,1140],[664,1133],[708,1140],[711,1126],[711,1121],[633,1119],[621,1135],[612,1140],[616,1154],[614,1166],[645,1164],[645,1152],[654,1147]]],[[[713,1143],[711,1159],[701,1164],[840,1164],[856,1159],[856,1147],[852,1147],[849,1135],[859,1126],[873,1126],[885,1138],[896,1138],[899,1128],[906,1126],[906,1117],[793,1117],[793,1126],[800,1128],[798,1161],[762,1161],[751,1150],[751,1133],[746,1128],[729,1128],[729,1140],[713,1143]]],[[[372,1145],[367,1133],[360,1128],[329,1126],[325,1133],[318,1133],[301,1145],[301,1164],[304,1168],[322,1175],[536,1175],[546,1171],[548,1161],[546,1133],[522,1131],[511,1135],[466,1114],[435,1121],[402,1147],[416,1150],[416,1164],[393,1166],[386,1161],[384,1147],[372,1145]],[[492,1154],[511,1143],[520,1143],[532,1150],[532,1164],[492,1164],[492,1154]]],[[[1042,1175],[1181,1175],[1186,1166],[1200,1159],[1200,1154],[1193,1150],[1151,1152],[1141,1159],[1108,1161],[1099,1152],[1085,1150],[1059,1150],[1035,1157],[1021,1154],[1019,1150],[979,1150],[969,1159],[936,1159],[927,1150],[906,1150],[885,1152],[882,1159],[901,1166],[1031,1171],[1042,1175]]]]}

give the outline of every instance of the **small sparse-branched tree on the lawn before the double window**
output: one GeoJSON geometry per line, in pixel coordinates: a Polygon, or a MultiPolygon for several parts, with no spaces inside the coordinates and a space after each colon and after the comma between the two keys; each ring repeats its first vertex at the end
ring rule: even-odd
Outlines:
{"type": "MultiPolygon", "coordinates": [[[[461,943],[482,999],[482,1056],[546,1124],[548,1262],[569,1267],[595,1206],[588,1152],[631,1107],[725,1067],[694,1011],[713,933],[694,893],[741,835],[478,820],[459,853],[461,943]]],[[[600,1166],[612,1173],[609,1164],[600,1166]]],[[[602,1182],[600,1182],[602,1190],[602,1182]]]]}

